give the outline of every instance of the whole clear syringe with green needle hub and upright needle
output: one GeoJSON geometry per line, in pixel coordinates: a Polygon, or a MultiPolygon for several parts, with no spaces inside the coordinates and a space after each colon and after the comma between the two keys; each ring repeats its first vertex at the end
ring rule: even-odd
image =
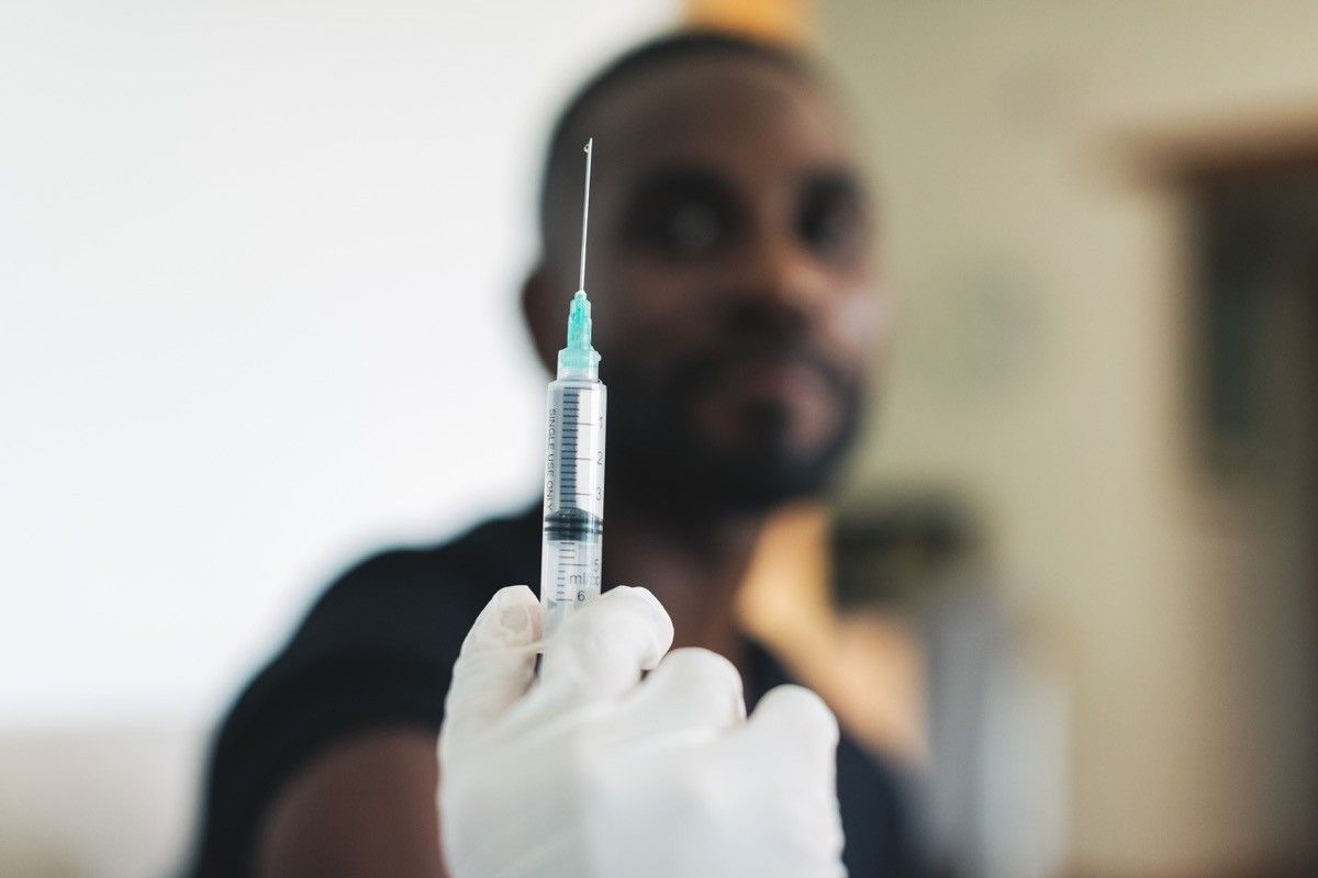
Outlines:
{"type": "Polygon", "coordinates": [[[590,346],[590,300],[585,295],[585,238],[590,212],[590,153],[585,145],[581,209],[581,278],[568,309],[568,344],[550,382],[544,430],[544,544],[540,604],[544,636],[600,595],[604,561],[604,426],[606,391],[600,354],[590,346]]]}

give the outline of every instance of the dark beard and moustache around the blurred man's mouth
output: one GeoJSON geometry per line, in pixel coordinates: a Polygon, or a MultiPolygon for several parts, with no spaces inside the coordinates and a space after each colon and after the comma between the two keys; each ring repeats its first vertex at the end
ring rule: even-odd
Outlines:
{"type": "Polygon", "coordinates": [[[861,380],[801,342],[751,338],[720,345],[659,378],[642,376],[625,357],[616,357],[608,384],[608,478],[625,496],[671,512],[754,513],[818,496],[861,425],[861,380]],[[739,404],[743,429],[735,442],[716,441],[702,429],[702,395],[755,359],[789,361],[820,379],[836,412],[825,440],[811,448],[793,441],[801,415],[786,399],[739,404]]]}

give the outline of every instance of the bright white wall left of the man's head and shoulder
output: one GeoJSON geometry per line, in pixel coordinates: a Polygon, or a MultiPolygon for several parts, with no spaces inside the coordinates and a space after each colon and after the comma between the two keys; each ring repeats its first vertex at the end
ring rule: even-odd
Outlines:
{"type": "Polygon", "coordinates": [[[0,728],[210,723],[358,552],[536,496],[544,129],[672,5],[0,4],[0,728]]]}

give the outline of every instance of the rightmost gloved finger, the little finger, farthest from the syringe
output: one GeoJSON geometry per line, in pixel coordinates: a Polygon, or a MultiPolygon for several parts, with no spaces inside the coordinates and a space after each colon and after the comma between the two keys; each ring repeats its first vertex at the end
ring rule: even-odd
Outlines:
{"type": "Polygon", "coordinates": [[[755,706],[746,725],[728,736],[738,757],[775,766],[793,788],[836,795],[837,719],[803,686],[778,686],[755,706]]]}

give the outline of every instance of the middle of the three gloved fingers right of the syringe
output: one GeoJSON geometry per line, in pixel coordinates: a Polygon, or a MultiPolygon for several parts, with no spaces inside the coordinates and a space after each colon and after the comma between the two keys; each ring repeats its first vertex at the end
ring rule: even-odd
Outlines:
{"type": "Polygon", "coordinates": [[[622,702],[616,740],[681,732],[720,733],[746,720],[741,674],[708,649],[675,649],[622,702]]]}

